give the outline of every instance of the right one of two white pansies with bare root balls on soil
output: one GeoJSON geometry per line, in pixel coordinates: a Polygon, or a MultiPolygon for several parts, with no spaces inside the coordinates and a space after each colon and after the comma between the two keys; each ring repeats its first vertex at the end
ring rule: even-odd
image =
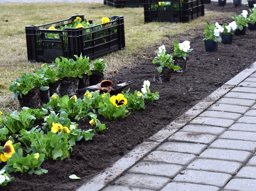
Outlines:
{"type": "Polygon", "coordinates": [[[174,53],[173,60],[174,65],[180,66],[180,69],[176,70],[177,72],[185,71],[187,68],[187,53],[191,52],[193,49],[190,48],[190,42],[184,41],[183,43],[174,42],[174,53]]]}

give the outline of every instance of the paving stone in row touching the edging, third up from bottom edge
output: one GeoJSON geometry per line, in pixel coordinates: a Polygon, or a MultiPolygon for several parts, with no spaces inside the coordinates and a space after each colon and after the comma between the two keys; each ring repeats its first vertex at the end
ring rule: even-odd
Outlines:
{"type": "Polygon", "coordinates": [[[183,169],[183,166],[177,164],[143,161],[130,168],[128,173],[149,174],[173,178],[183,169]]]}

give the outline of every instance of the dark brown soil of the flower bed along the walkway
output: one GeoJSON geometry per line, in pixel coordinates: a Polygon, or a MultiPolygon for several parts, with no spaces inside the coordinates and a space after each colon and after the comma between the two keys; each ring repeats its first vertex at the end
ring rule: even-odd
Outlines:
{"type": "MultiPolygon", "coordinates": [[[[205,9],[219,12],[235,12],[237,15],[247,5],[220,7],[217,2],[205,4],[205,9]]],[[[231,18],[215,18],[210,23],[219,24],[231,22],[231,18]]],[[[250,67],[256,60],[255,40],[256,31],[247,30],[246,35],[234,36],[232,45],[219,44],[217,52],[205,52],[202,39],[204,27],[188,31],[179,36],[169,36],[170,42],[160,42],[156,47],[150,47],[146,52],[137,56],[136,65],[124,67],[110,80],[114,84],[133,80],[129,86],[131,92],[140,90],[144,80],[151,82],[151,92],[159,91],[160,99],[153,104],[146,103],[145,110],[132,111],[127,118],[108,121],[100,117],[108,128],[102,133],[96,133],[93,140],[77,143],[69,158],[63,161],[44,161],[42,168],[48,173],[43,175],[29,175],[11,173],[15,176],[13,182],[1,191],[64,191],[76,190],[83,183],[88,182],[95,175],[117,161],[137,144],[161,130],[175,118],[183,114],[200,100],[208,96],[222,84],[234,77],[243,69],[250,67]],[[168,83],[153,81],[155,65],[152,60],[159,46],[165,45],[167,53],[173,51],[173,40],[190,41],[194,50],[189,53],[187,71],[175,73],[168,83]],[[81,180],[72,180],[68,176],[76,174],[81,180]]],[[[42,121],[37,122],[41,124],[42,121]]],[[[88,130],[91,126],[87,119],[79,122],[79,128],[88,130]]],[[[0,164],[0,169],[4,163],[0,164]]]]}

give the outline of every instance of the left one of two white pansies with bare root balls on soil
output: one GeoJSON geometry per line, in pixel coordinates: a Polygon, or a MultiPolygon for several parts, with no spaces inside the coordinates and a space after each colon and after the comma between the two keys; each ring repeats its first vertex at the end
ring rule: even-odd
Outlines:
{"type": "Polygon", "coordinates": [[[153,64],[157,64],[154,81],[159,83],[169,82],[173,71],[180,69],[180,67],[173,64],[172,54],[165,53],[166,49],[164,45],[158,49],[159,51],[155,51],[157,56],[152,61],[153,64]]]}

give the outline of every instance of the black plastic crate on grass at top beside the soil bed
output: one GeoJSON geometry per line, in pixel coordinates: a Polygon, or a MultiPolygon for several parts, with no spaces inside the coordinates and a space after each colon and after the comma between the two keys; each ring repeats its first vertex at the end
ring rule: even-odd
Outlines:
{"type": "Polygon", "coordinates": [[[204,0],[172,0],[167,2],[170,5],[159,5],[159,0],[144,0],[145,23],[185,23],[204,16],[204,0]]]}

